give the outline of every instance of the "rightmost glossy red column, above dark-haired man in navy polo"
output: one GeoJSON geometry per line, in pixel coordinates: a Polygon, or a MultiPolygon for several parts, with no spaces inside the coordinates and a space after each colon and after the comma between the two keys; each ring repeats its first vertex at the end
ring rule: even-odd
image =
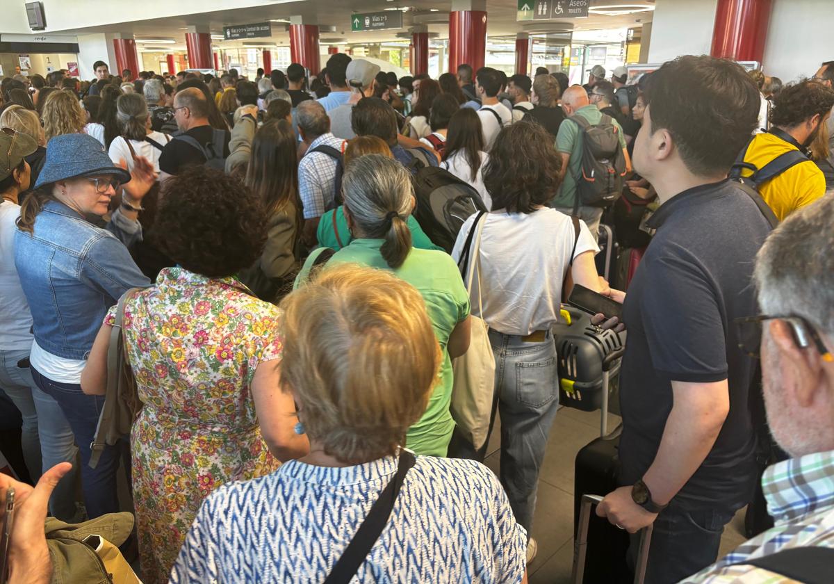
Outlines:
{"type": "Polygon", "coordinates": [[[761,63],[771,6],[772,0],[718,0],[711,55],[761,63]]]}

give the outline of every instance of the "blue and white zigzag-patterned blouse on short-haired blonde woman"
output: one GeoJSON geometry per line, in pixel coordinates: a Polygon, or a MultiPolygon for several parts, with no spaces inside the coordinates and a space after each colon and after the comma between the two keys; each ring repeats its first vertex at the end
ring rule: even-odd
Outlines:
{"type": "MultiPolygon", "coordinates": [[[[170,581],[318,584],[396,468],[393,456],[344,468],[289,461],[222,486],[203,501],[170,581]]],[[[492,471],[417,456],[354,581],[520,582],[525,552],[525,530],[492,471]]]]}

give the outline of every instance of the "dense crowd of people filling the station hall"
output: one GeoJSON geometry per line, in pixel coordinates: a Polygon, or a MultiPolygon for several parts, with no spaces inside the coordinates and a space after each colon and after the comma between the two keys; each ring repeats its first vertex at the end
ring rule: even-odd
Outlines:
{"type": "Polygon", "coordinates": [[[38,525],[122,510],[123,471],[148,584],[324,581],[384,505],[359,581],[526,581],[574,284],[624,305],[594,317],[628,331],[620,488],[597,513],[631,561],[654,526],[646,581],[760,581],[757,557],[834,546],[834,62],[784,85],[694,56],[585,86],[398,79],[344,53],[309,79],[93,70],[0,92],[9,581],[50,581],[38,525]],[[615,186],[589,179],[589,128],[615,186]],[[427,170],[485,209],[450,250],[414,217],[427,170]],[[627,292],[595,263],[620,197],[651,237],[627,292]],[[498,476],[451,406],[475,319],[498,476]],[[142,407],[100,447],[113,326],[142,407]],[[760,480],[776,526],[712,565],[760,480]]]}

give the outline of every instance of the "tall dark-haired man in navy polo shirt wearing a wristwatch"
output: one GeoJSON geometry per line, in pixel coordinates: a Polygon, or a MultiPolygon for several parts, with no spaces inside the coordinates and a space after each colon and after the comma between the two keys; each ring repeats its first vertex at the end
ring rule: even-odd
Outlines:
{"type": "Polygon", "coordinates": [[[677,58],[652,75],[644,99],[634,164],[661,207],[623,310],[622,486],[597,513],[631,533],[654,523],[646,583],[668,584],[716,560],[756,481],[754,363],[733,319],[757,312],[751,274],[770,225],[726,179],[759,111],[744,69],[677,58]]]}

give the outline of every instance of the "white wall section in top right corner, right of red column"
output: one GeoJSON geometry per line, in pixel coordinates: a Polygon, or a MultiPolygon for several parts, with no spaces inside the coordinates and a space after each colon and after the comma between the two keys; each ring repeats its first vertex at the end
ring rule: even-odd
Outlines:
{"type": "Polygon", "coordinates": [[[765,73],[785,83],[811,77],[823,61],[834,60],[831,0],[774,0],[767,30],[765,73]]]}

